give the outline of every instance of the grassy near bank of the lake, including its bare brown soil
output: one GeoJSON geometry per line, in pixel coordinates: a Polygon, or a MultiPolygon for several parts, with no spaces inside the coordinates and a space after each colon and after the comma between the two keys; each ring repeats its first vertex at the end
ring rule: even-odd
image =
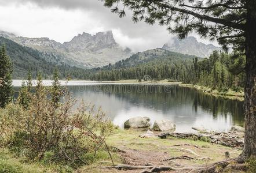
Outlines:
{"type": "MultiPolygon", "coordinates": [[[[183,140],[177,138],[160,139],[158,137],[141,138],[140,134],[145,131],[116,129],[109,136],[107,143],[111,146],[111,154],[115,164],[132,165],[169,165],[169,166],[200,166],[225,159],[225,152],[229,152],[231,158],[237,157],[242,152],[239,148],[228,148],[222,145],[210,144],[204,141],[183,140]],[[182,145],[185,144],[185,145],[182,145]],[[175,146],[176,145],[176,146],[175,146]],[[180,146],[178,146],[180,145],[180,146]],[[118,152],[118,149],[123,152],[118,152]],[[205,160],[177,159],[166,160],[170,157],[189,156],[195,158],[209,157],[205,160]]],[[[93,158],[89,165],[71,168],[64,163],[53,163],[50,160],[42,160],[33,163],[25,157],[17,157],[8,149],[0,150],[0,172],[140,172],[118,171],[103,169],[111,166],[111,159],[107,152],[98,151],[88,158],[93,158]]]]}

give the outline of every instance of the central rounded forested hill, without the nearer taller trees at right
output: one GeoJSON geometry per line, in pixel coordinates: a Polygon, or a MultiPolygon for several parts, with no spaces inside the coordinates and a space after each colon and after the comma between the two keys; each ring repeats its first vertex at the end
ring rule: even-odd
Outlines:
{"type": "Polygon", "coordinates": [[[90,80],[161,80],[168,78],[173,81],[189,81],[192,59],[195,56],[183,55],[176,52],[156,48],[134,54],[126,60],[116,62],[97,69],[87,70],[86,78],[90,80]]]}

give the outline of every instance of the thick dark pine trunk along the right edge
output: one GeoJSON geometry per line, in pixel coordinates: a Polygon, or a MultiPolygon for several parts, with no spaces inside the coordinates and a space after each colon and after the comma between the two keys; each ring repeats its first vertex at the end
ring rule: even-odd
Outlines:
{"type": "Polygon", "coordinates": [[[243,154],[256,158],[256,1],[247,1],[245,137],[243,154]]]}

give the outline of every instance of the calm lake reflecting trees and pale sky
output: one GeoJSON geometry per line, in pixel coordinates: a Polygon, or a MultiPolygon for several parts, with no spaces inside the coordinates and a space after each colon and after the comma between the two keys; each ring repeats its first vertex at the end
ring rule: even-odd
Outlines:
{"type": "MultiPolygon", "coordinates": [[[[50,85],[50,81],[44,81],[50,85]]],[[[65,81],[61,82],[66,85],[65,81]]],[[[20,86],[20,81],[14,81],[20,86]]],[[[115,125],[134,116],[170,119],[177,132],[193,132],[191,127],[227,131],[232,125],[244,126],[243,101],[211,96],[178,85],[105,84],[89,81],[69,81],[73,96],[86,103],[101,106],[115,125]]],[[[16,88],[17,89],[17,88],[16,88]]]]}

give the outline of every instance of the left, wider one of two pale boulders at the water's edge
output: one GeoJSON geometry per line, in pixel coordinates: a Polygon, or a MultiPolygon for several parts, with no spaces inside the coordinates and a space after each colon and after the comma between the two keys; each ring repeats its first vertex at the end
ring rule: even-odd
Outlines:
{"type": "Polygon", "coordinates": [[[125,127],[125,129],[129,129],[129,128],[147,128],[147,127],[151,126],[151,123],[149,121],[150,121],[150,119],[147,116],[144,116],[144,117],[137,116],[137,117],[128,119],[124,123],[124,127],[125,127]]]}

